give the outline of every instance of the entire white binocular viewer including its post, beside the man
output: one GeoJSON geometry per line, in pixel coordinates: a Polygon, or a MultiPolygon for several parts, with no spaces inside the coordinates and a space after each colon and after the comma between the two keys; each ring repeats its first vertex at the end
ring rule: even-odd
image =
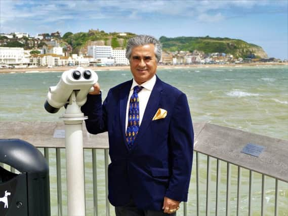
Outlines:
{"type": "Polygon", "coordinates": [[[97,74],[90,69],[78,67],[62,73],[60,81],[49,88],[45,109],[56,113],[65,106],[61,119],[65,124],[67,201],[68,215],[85,216],[85,184],[83,158],[83,120],[87,116],[80,107],[86,103],[87,95],[93,91],[97,74]]]}

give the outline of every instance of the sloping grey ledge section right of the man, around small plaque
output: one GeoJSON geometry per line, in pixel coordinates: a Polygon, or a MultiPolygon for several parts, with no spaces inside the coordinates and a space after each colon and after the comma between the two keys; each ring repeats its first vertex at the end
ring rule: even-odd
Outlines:
{"type": "Polygon", "coordinates": [[[200,153],[288,182],[288,141],[205,123],[194,140],[200,153]],[[241,153],[248,143],[264,146],[259,157],[241,153]]]}

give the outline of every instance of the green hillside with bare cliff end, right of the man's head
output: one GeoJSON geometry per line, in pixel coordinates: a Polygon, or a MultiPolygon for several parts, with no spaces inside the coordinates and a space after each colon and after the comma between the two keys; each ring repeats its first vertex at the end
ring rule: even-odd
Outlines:
{"type": "Polygon", "coordinates": [[[165,37],[161,36],[160,42],[164,51],[190,51],[195,50],[204,53],[226,53],[234,57],[268,58],[265,51],[254,44],[243,40],[231,39],[228,37],[165,37]]]}

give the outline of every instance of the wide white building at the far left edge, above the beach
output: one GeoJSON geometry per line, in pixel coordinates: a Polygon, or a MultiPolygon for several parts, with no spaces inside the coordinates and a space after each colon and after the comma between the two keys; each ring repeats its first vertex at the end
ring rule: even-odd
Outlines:
{"type": "Polygon", "coordinates": [[[0,64],[23,64],[24,63],[24,49],[0,47],[0,64]]]}

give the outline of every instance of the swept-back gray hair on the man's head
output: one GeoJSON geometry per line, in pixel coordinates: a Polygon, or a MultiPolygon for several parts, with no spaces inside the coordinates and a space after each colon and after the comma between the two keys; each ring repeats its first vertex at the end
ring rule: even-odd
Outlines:
{"type": "Polygon", "coordinates": [[[130,38],[127,42],[126,58],[130,60],[133,48],[148,44],[154,45],[154,54],[156,56],[157,62],[159,62],[162,56],[162,45],[160,44],[159,40],[149,35],[137,35],[136,37],[130,38]]]}

